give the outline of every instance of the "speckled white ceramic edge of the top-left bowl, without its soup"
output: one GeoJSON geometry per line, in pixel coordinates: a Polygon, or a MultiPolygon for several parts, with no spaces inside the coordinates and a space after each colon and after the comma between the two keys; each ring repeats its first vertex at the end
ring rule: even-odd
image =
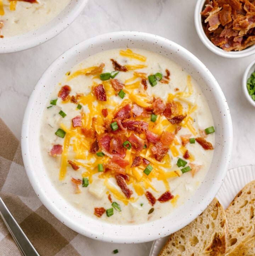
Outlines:
{"type": "Polygon", "coordinates": [[[87,1],[88,0],[70,1],[59,15],[34,31],[15,37],[0,38],[0,54],[27,50],[55,37],[77,18],[87,4],[87,1]]]}

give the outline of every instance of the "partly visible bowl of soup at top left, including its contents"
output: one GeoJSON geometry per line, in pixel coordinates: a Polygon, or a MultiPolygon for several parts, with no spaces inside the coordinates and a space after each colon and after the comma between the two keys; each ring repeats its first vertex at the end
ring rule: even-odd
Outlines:
{"type": "Polygon", "coordinates": [[[45,43],[62,32],[87,0],[0,0],[0,53],[45,43]]]}

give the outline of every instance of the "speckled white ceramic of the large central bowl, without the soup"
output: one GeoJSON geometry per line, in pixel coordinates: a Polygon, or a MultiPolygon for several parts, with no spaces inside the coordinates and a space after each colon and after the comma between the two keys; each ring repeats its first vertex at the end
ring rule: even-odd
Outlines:
{"type": "Polygon", "coordinates": [[[22,127],[22,155],[30,182],[44,205],[61,222],[90,238],[115,243],[142,243],[169,235],[186,226],[211,202],[225,178],[232,148],[232,123],[226,99],[210,71],[180,45],[147,33],[115,32],[100,35],[64,52],[40,78],[29,99],[22,127]],[[180,208],[157,221],[115,225],[83,215],[65,201],[51,184],[40,154],[40,119],[46,100],[67,70],[97,52],[115,48],[142,48],[171,58],[201,87],[215,126],[215,151],[210,171],[196,193],[180,208]],[[40,170],[40,171],[38,171],[40,170]]]}

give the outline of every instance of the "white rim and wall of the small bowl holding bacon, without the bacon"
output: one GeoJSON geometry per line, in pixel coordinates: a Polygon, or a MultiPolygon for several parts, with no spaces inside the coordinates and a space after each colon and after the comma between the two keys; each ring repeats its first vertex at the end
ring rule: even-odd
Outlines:
{"type": "Polygon", "coordinates": [[[198,0],[196,3],[195,11],[194,11],[194,23],[197,30],[198,37],[202,41],[202,43],[212,52],[215,54],[227,57],[227,58],[243,58],[250,55],[255,54],[255,45],[252,45],[242,51],[224,51],[223,49],[219,48],[218,46],[214,45],[208,37],[206,37],[204,33],[204,29],[202,26],[201,15],[200,12],[204,6],[206,0],[198,0]]]}

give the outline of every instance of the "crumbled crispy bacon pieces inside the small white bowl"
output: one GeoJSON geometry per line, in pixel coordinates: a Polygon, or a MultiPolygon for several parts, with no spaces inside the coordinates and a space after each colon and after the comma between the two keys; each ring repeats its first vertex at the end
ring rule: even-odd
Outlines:
{"type": "Polygon", "coordinates": [[[206,36],[225,51],[240,51],[255,43],[255,2],[213,0],[201,12],[206,36]]]}

